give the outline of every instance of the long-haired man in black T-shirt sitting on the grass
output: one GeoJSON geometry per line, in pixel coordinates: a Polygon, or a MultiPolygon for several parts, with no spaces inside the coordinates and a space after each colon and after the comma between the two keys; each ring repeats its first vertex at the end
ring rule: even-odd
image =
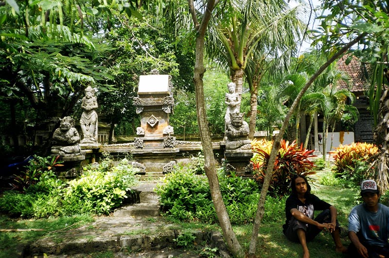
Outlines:
{"type": "Polygon", "coordinates": [[[345,253],[347,249],[340,240],[336,208],[311,194],[311,186],[302,175],[295,175],[291,182],[292,194],[286,199],[286,223],[283,234],[290,241],[300,242],[303,258],[309,258],[307,242],[313,240],[323,229],[331,232],[336,252],[345,253]],[[314,219],[314,211],[322,210],[314,219]]]}

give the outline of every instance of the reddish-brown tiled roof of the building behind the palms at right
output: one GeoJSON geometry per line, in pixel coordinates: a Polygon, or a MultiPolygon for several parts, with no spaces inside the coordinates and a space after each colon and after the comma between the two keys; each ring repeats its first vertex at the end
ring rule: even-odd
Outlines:
{"type": "Polygon", "coordinates": [[[337,61],[337,68],[341,71],[346,72],[350,76],[350,85],[347,86],[347,84],[343,81],[340,81],[338,84],[339,89],[350,89],[351,92],[353,92],[355,95],[361,95],[365,91],[365,83],[358,78],[358,72],[361,66],[361,62],[358,60],[357,57],[353,55],[353,58],[351,62],[346,65],[346,59],[348,55],[344,55],[342,58],[340,58],[337,61]]]}

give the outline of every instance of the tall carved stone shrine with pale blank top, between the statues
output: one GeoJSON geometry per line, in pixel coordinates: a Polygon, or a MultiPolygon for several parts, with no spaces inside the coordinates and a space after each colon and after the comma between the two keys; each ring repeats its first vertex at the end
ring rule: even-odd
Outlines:
{"type": "Polygon", "coordinates": [[[169,125],[174,106],[171,76],[161,75],[156,69],[149,75],[141,75],[138,97],[133,104],[137,114],[141,114],[138,137],[134,138],[135,149],[131,151],[136,160],[133,165],[140,168],[141,173],[165,173],[179,152],[176,138],[172,136],[174,128],[169,125]]]}

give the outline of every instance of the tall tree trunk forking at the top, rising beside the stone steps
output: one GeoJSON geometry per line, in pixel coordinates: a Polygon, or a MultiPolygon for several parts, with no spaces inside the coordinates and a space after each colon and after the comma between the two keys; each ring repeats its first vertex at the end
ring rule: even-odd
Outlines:
{"type": "Polygon", "coordinates": [[[213,205],[215,206],[217,218],[220,227],[223,231],[223,236],[227,241],[227,246],[234,257],[243,258],[245,252],[243,251],[239,241],[236,238],[232,226],[230,223],[230,217],[227,213],[226,206],[224,205],[222,195],[219,188],[219,180],[217,178],[216,167],[213,158],[212,141],[211,135],[208,128],[205,98],[204,98],[204,38],[206,28],[208,26],[209,19],[214,6],[218,0],[209,0],[207,3],[206,12],[201,20],[201,23],[197,23],[195,16],[195,6],[193,0],[189,0],[189,7],[191,9],[192,18],[196,29],[196,50],[195,50],[195,71],[194,71],[194,82],[195,82],[195,94],[196,94],[196,112],[199,135],[204,152],[204,170],[207,175],[213,205]]]}

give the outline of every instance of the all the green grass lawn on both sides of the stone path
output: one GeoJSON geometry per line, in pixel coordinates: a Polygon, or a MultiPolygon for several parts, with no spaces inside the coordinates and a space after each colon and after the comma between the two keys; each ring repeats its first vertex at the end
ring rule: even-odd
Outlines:
{"type": "MultiPolygon", "coordinates": [[[[320,177],[324,172],[319,172],[316,177],[320,177]]],[[[351,208],[355,205],[356,192],[352,189],[342,187],[328,187],[318,184],[318,180],[312,185],[312,193],[319,198],[336,206],[338,210],[338,220],[344,230],[342,241],[347,246],[350,241],[347,238],[347,217],[351,208]]],[[[284,210],[278,212],[284,214],[284,210]]],[[[18,244],[34,241],[42,236],[74,224],[79,227],[92,221],[88,216],[74,216],[62,218],[50,218],[39,220],[10,219],[5,215],[0,215],[0,229],[43,229],[43,231],[23,231],[23,232],[0,232],[0,258],[14,257],[18,244]]],[[[282,233],[283,220],[278,222],[263,223],[257,244],[258,258],[299,258],[302,255],[301,246],[298,243],[288,241],[282,233]]],[[[217,225],[204,225],[199,223],[177,223],[180,228],[219,228],[217,225]]],[[[251,238],[252,225],[234,225],[234,231],[245,250],[248,250],[251,238]]],[[[60,232],[55,233],[60,238],[60,232]]],[[[318,237],[308,243],[311,258],[340,258],[341,254],[335,253],[335,244],[331,234],[321,233],[318,237]]]]}

